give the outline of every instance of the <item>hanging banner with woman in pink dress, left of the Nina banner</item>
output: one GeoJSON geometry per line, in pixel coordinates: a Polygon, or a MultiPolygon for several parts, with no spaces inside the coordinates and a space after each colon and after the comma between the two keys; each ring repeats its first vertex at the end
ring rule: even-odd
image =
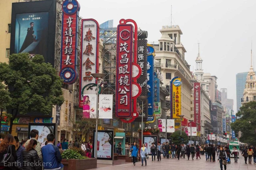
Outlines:
{"type": "Polygon", "coordinates": [[[96,118],[97,95],[83,96],[83,118],[96,118]]]}

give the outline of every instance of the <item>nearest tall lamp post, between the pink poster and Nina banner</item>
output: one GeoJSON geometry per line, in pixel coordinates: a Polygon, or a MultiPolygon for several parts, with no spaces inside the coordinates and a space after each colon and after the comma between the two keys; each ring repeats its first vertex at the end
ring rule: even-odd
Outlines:
{"type": "Polygon", "coordinates": [[[99,118],[99,113],[98,113],[98,102],[99,102],[99,81],[105,76],[103,73],[92,73],[92,77],[94,77],[97,80],[97,103],[96,103],[96,134],[95,134],[95,143],[96,147],[94,145],[94,153],[95,153],[95,158],[97,158],[97,139],[98,139],[98,118],[99,118]]]}

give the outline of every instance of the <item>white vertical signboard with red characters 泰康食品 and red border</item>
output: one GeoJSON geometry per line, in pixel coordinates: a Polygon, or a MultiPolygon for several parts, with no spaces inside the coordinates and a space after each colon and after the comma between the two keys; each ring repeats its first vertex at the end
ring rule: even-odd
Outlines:
{"type": "Polygon", "coordinates": [[[92,73],[98,73],[99,68],[99,24],[94,19],[82,19],[82,38],[80,54],[80,104],[83,106],[83,94],[95,94],[97,86],[92,73]],[[96,84],[95,84],[96,85],[96,84]]]}

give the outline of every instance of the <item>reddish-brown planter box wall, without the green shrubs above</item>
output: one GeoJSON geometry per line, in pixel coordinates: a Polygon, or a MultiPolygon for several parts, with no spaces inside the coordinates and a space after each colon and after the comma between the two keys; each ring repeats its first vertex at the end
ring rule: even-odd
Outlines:
{"type": "Polygon", "coordinates": [[[85,170],[97,168],[97,159],[62,159],[64,170],[85,170]]]}

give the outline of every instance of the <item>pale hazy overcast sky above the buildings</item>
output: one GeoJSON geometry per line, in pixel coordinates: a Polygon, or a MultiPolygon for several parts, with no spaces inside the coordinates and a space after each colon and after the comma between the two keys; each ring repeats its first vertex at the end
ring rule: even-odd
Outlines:
{"type": "MultiPolygon", "coordinates": [[[[164,25],[179,25],[185,60],[195,69],[200,43],[203,69],[218,77],[218,89],[227,88],[234,99],[236,112],[236,74],[249,71],[251,43],[256,52],[255,0],[78,0],[83,19],[93,18],[99,24],[114,19],[133,19],[148,32],[148,42],[161,38],[164,25]]],[[[254,59],[253,59],[254,61],[254,59]]],[[[254,66],[254,63],[253,63],[254,66]]]]}

